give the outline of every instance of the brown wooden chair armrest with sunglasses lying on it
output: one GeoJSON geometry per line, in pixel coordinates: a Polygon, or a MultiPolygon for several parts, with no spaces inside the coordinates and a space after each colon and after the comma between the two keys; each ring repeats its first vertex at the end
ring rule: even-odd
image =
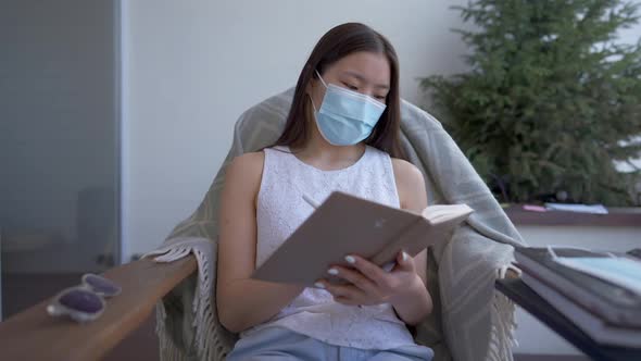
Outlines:
{"type": "Polygon", "coordinates": [[[172,263],[143,259],[111,269],[103,275],[123,291],[106,300],[98,320],[78,324],[51,318],[46,311],[48,299],[0,323],[2,359],[98,360],[144,322],[154,304],[196,269],[192,256],[172,263]]]}

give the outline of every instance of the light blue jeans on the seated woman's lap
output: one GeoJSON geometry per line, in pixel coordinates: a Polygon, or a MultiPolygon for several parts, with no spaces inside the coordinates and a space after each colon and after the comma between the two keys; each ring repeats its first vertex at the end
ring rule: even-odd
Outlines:
{"type": "Polygon", "coordinates": [[[432,350],[420,345],[363,350],[325,344],[282,327],[268,327],[241,338],[227,361],[430,361],[432,357],[432,350]]]}

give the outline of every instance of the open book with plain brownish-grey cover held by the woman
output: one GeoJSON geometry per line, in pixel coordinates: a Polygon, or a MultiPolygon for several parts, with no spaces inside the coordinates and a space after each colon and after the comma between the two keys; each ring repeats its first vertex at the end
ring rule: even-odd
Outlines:
{"type": "Polygon", "coordinates": [[[252,277],[303,285],[319,278],[331,282],[327,270],[335,264],[350,266],[347,254],[389,266],[401,250],[414,257],[430,245],[448,241],[472,212],[466,204],[439,204],[415,213],[336,191],[252,277]]]}

